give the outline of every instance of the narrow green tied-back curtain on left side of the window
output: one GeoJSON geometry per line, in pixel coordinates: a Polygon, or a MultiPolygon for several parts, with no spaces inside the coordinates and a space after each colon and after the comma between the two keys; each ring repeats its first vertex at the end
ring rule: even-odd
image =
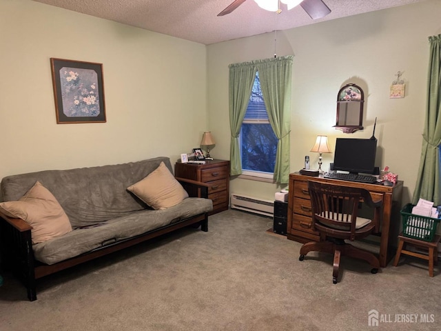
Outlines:
{"type": "Polygon", "coordinates": [[[229,128],[232,132],[229,162],[232,176],[242,173],[238,137],[247,112],[256,71],[256,66],[251,62],[229,65],[229,128]]]}

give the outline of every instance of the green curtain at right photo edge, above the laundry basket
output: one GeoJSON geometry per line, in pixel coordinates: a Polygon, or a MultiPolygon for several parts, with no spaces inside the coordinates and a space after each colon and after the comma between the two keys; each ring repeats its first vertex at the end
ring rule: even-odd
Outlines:
{"type": "Polygon", "coordinates": [[[412,203],[418,199],[441,204],[440,155],[441,144],[441,34],[429,37],[429,75],[427,84],[427,111],[422,134],[420,168],[412,203]]]}

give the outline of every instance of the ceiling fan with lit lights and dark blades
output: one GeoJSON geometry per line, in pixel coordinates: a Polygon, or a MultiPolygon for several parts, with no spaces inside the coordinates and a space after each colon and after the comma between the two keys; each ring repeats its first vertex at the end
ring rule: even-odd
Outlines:
{"type": "MultiPolygon", "coordinates": [[[[225,8],[222,12],[218,14],[218,16],[224,16],[226,14],[229,14],[233,10],[236,10],[238,6],[240,6],[242,3],[244,3],[247,0],[234,0],[227,8],[225,8]]],[[[263,1],[256,1],[258,6],[264,8],[262,5],[263,1]]],[[[288,5],[288,10],[297,6],[300,1],[293,1],[293,0],[281,0],[283,3],[286,3],[288,5]]],[[[277,1],[278,5],[278,1],[277,1]]],[[[322,17],[325,17],[327,14],[331,12],[331,10],[326,6],[326,4],[322,0],[303,0],[300,2],[300,6],[307,12],[307,14],[311,17],[311,19],[321,19],[322,17]]],[[[267,8],[264,8],[267,9],[267,8]]],[[[269,10],[269,9],[267,9],[269,10]]],[[[280,9],[278,7],[276,8],[276,12],[279,12],[280,9]]]]}

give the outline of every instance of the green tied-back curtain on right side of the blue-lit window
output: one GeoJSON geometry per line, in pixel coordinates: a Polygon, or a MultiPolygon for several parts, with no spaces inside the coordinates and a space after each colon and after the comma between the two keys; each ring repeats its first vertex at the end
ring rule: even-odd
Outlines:
{"type": "Polygon", "coordinates": [[[289,132],[291,132],[291,77],[294,57],[278,57],[256,63],[269,123],[278,139],[274,180],[289,181],[289,132]]]}

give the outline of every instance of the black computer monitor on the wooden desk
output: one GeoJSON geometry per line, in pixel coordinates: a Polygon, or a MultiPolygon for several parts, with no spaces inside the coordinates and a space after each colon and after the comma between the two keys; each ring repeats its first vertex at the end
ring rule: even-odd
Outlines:
{"type": "Polygon", "coordinates": [[[334,170],[373,174],[377,139],[337,138],[334,170]]]}

